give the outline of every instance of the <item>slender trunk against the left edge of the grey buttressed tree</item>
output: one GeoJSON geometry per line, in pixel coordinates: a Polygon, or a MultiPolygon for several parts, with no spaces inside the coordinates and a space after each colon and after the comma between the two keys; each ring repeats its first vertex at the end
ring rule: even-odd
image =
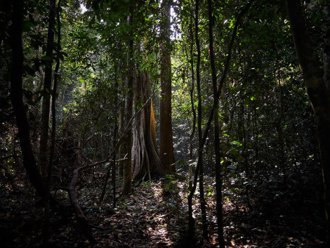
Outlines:
{"type": "MultiPolygon", "coordinates": [[[[133,10],[131,10],[133,13],[133,10]]],[[[128,24],[133,25],[133,14],[128,16],[128,24]]],[[[128,126],[128,122],[132,118],[133,109],[133,81],[134,81],[134,63],[133,63],[133,39],[129,41],[128,44],[128,55],[127,55],[127,67],[128,67],[128,79],[126,83],[126,100],[125,100],[125,118],[124,126],[128,126]]],[[[123,173],[123,193],[127,195],[132,190],[132,129],[128,128],[125,134],[126,138],[124,142],[124,151],[127,153],[127,160],[124,163],[124,173],[123,173]]]]}

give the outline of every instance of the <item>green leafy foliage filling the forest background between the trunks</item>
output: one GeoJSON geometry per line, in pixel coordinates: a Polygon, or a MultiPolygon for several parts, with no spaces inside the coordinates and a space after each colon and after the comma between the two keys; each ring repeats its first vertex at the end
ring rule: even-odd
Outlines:
{"type": "MultiPolygon", "coordinates": [[[[320,44],[322,44],[322,34],[326,31],[324,25],[326,16],[322,12],[320,1],[307,2],[309,4],[304,5],[305,15],[312,40],[315,41],[315,51],[321,54],[323,48],[320,44]]],[[[190,167],[194,169],[197,163],[195,159],[199,143],[197,133],[194,133],[193,158],[190,160],[192,105],[197,108],[197,93],[196,90],[192,91],[196,88],[194,84],[196,84],[197,63],[193,37],[194,4],[194,1],[176,2],[176,6],[173,6],[176,16],[173,15],[171,20],[173,147],[177,171],[184,176],[187,176],[190,167]],[[190,45],[192,45],[191,54],[190,45]],[[194,65],[192,70],[191,63],[194,65]]],[[[213,48],[218,81],[223,74],[237,14],[244,4],[246,1],[213,1],[213,48]]],[[[213,89],[206,2],[202,1],[199,7],[204,131],[213,107],[213,89]]],[[[1,161],[10,171],[10,175],[15,175],[19,171],[20,149],[15,136],[9,93],[10,13],[10,4],[1,3],[0,157],[15,155],[1,161]]],[[[41,91],[45,64],[51,60],[45,53],[47,15],[47,1],[25,1],[23,100],[29,110],[31,136],[36,152],[41,99],[49,97],[49,94],[45,95],[41,91]]],[[[159,35],[161,16],[160,1],[62,1],[61,64],[56,117],[59,123],[58,143],[67,142],[70,145],[58,148],[60,158],[56,161],[58,164],[55,169],[60,171],[58,172],[60,176],[58,174],[56,176],[61,179],[57,178],[57,182],[62,182],[62,173],[70,174],[69,169],[66,169],[68,164],[72,169],[81,165],[83,161],[73,159],[74,161],[63,162],[61,159],[65,157],[67,150],[79,148],[88,159],[93,161],[106,159],[109,151],[112,150],[114,127],[119,124],[119,110],[124,105],[126,93],[133,90],[126,89],[125,86],[130,71],[127,60],[130,40],[133,40],[134,44],[132,58],[136,65],[133,68],[134,77],[137,77],[138,69],[142,69],[150,77],[151,91],[159,89],[160,48],[163,41],[159,35]],[[86,4],[88,10],[81,13],[80,4],[86,4]],[[133,15],[133,25],[128,25],[126,21],[128,15],[133,15]]],[[[219,109],[223,199],[227,203],[235,202],[235,207],[239,204],[247,205],[251,201],[249,204],[260,211],[254,213],[251,208],[249,212],[251,216],[267,214],[268,207],[271,209],[273,204],[282,204],[284,201],[294,204],[293,200],[289,201],[290,197],[292,199],[303,197],[298,190],[299,185],[304,185],[310,180],[309,176],[321,178],[315,122],[295,58],[283,1],[254,1],[250,11],[239,23],[230,67],[220,96],[219,109]],[[284,188],[284,184],[287,188],[284,188]],[[253,197],[251,197],[252,193],[253,197]]],[[[55,59],[51,61],[53,67],[55,59]]],[[[159,124],[157,117],[160,97],[161,93],[157,92],[152,98],[157,124],[159,124]]],[[[140,110],[143,103],[136,103],[136,106],[140,110]]],[[[213,136],[213,131],[210,131],[203,148],[205,174],[210,178],[213,178],[215,171],[213,136]]],[[[109,165],[105,164],[104,167],[108,168],[109,165]]],[[[6,169],[1,170],[3,174],[7,173],[6,169]]],[[[175,195],[181,190],[177,187],[180,181],[173,176],[167,176],[161,182],[165,194],[175,195]]],[[[155,181],[147,181],[141,183],[140,187],[146,190],[157,184],[155,181]]],[[[308,192],[307,189],[304,190],[308,192]]],[[[214,191],[213,182],[207,183],[206,198],[213,199],[214,191]]],[[[82,195],[88,198],[89,193],[86,190],[82,195]]],[[[59,194],[62,194],[62,197],[67,196],[64,191],[59,194]]],[[[183,198],[185,197],[186,195],[183,195],[183,198]]],[[[132,203],[125,202],[126,200],[128,198],[122,199],[119,203],[121,209],[127,210],[132,207],[132,203]]],[[[166,208],[170,211],[178,210],[174,204],[166,204],[166,208]]],[[[90,207],[88,211],[93,212],[93,209],[90,207]]],[[[156,210],[150,209],[150,212],[154,211],[156,210]]],[[[194,211],[197,212],[196,209],[194,211]]],[[[156,222],[158,219],[153,216],[151,220],[156,222]]],[[[244,233],[246,226],[242,224],[235,229],[230,222],[226,225],[228,237],[239,240],[243,246],[249,238],[246,232],[244,233]]],[[[265,235],[265,232],[269,232],[267,229],[269,227],[263,225],[260,223],[262,227],[256,226],[251,232],[265,235]]],[[[276,239],[273,244],[282,247],[284,241],[280,235],[277,234],[276,239]]],[[[292,240],[291,244],[303,245],[301,240],[292,240]]]]}

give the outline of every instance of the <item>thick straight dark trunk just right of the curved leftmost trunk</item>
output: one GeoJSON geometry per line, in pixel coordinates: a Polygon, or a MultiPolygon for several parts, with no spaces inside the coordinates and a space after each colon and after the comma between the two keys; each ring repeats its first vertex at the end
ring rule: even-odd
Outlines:
{"type": "Polygon", "coordinates": [[[55,0],[49,1],[49,20],[48,20],[48,37],[45,59],[45,81],[42,100],[41,113],[41,133],[39,144],[39,163],[43,174],[46,174],[46,165],[48,162],[48,128],[49,128],[49,112],[51,106],[51,81],[52,81],[52,64],[53,64],[53,43],[55,35],[55,0]]]}

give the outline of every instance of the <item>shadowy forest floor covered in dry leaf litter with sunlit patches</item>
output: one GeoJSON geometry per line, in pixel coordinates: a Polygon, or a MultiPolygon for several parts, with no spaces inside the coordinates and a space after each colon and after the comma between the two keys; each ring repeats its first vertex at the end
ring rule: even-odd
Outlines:
{"type": "MultiPolygon", "coordinates": [[[[206,177],[209,240],[202,238],[198,193],[194,197],[196,247],[216,247],[213,183],[211,177],[206,177]]],[[[117,192],[115,208],[111,189],[98,203],[101,185],[101,181],[93,181],[77,193],[93,225],[98,241],[94,247],[187,247],[186,181],[168,177],[140,183],[128,197],[117,192]]],[[[250,186],[247,196],[246,190],[225,185],[223,221],[227,247],[326,247],[322,193],[315,191],[319,190],[318,184],[296,182],[286,189],[281,187],[275,181],[256,183],[250,186]]],[[[57,196],[65,199],[66,193],[59,190],[57,196]]],[[[47,244],[41,242],[44,210],[33,190],[13,190],[3,183],[0,197],[1,247],[91,247],[70,211],[51,216],[51,238],[47,244]]]]}

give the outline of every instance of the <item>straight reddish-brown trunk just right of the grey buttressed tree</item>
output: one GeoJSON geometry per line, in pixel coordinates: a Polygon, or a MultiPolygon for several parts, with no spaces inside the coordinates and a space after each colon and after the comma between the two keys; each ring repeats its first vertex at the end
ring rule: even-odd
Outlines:
{"type": "Polygon", "coordinates": [[[163,7],[163,19],[161,21],[161,98],[159,112],[159,158],[164,169],[175,172],[173,165],[173,133],[172,133],[172,72],[170,51],[171,5],[166,1],[163,7]]]}

